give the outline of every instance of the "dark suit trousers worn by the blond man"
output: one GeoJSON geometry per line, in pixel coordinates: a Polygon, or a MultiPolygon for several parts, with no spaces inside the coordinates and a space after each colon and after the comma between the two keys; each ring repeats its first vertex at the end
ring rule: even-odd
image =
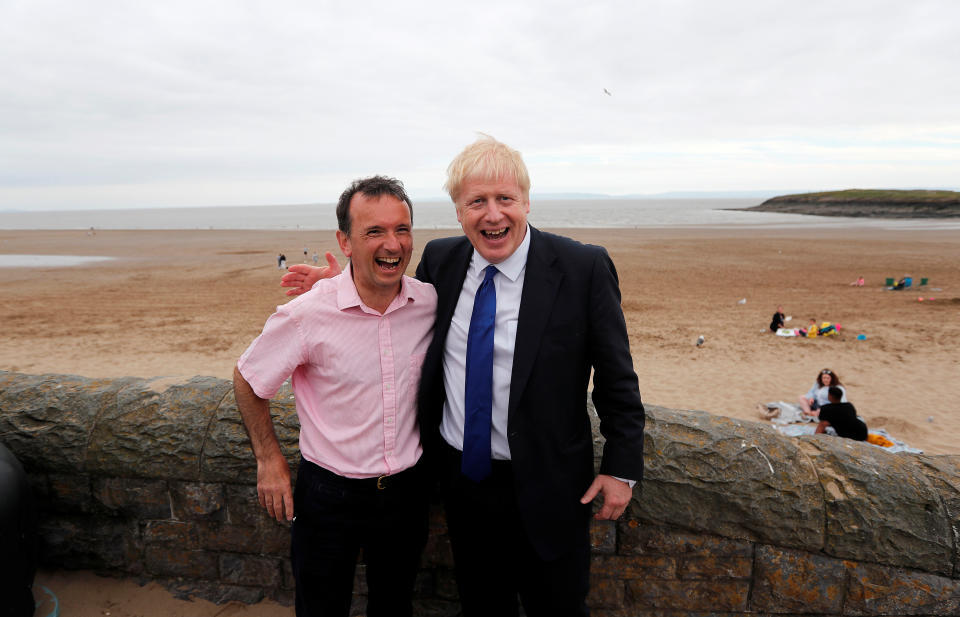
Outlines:
{"type": "Polygon", "coordinates": [[[473,482],[460,473],[461,453],[442,450],[440,491],[464,617],[515,617],[518,597],[528,617],[589,615],[589,510],[577,548],[544,561],[520,519],[511,463],[493,461],[490,477],[473,482]]]}

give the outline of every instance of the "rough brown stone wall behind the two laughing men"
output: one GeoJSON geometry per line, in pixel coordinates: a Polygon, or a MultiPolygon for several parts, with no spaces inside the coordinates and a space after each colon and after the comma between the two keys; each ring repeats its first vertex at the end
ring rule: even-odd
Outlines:
{"type": "MultiPolygon", "coordinates": [[[[288,390],[272,412],[295,464],[288,390]]],[[[960,614],[960,456],[653,406],[647,426],[642,488],[593,527],[594,615],[960,614]]],[[[291,601],[288,530],[257,504],[230,382],[0,371],[0,440],[30,475],[47,566],[291,601]]],[[[419,614],[455,615],[440,508],[431,523],[419,614]]],[[[362,567],[356,589],[362,611],[362,567]]]]}

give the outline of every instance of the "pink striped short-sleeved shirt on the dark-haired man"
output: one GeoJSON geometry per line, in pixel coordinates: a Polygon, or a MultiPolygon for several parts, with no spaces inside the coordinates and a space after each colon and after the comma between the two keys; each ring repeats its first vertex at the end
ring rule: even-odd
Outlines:
{"type": "Polygon", "coordinates": [[[422,453],[417,387],[437,293],[404,276],[381,315],[360,300],[350,272],[278,306],[238,366],[261,398],[292,374],[300,453],[341,476],[370,478],[412,467],[422,453]]]}

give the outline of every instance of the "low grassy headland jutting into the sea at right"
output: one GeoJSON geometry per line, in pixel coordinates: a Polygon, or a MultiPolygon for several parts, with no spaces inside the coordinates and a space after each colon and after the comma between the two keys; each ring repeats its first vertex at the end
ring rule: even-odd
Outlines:
{"type": "Polygon", "coordinates": [[[752,208],[755,212],[874,218],[960,218],[960,192],[849,189],[781,195],[752,208]]]}

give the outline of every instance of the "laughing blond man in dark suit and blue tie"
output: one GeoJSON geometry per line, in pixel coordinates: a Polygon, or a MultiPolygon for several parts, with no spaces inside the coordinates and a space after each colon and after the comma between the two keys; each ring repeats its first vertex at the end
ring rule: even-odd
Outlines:
{"type": "MultiPolygon", "coordinates": [[[[528,224],[526,166],[491,137],[453,160],[446,190],[464,235],[429,242],[417,267],[438,293],[419,407],[463,615],[515,616],[518,598],[531,617],[586,615],[590,503],[602,495],[594,518],[619,518],[643,475],[616,269],[602,247],[528,224]],[[591,369],[606,437],[596,476],[591,369]]],[[[291,270],[288,294],[320,275],[291,270]]]]}

